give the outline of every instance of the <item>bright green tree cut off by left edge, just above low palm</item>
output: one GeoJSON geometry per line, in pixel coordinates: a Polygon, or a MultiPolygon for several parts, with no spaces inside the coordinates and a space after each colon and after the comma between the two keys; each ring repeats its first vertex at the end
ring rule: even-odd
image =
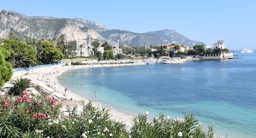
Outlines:
{"type": "Polygon", "coordinates": [[[5,61],[5,58],[10,56],[10,52],[0,46],[0,87],[4,86],[5,82],[9,81],[13,76],[13,66],[10,62],[5,61]]]}

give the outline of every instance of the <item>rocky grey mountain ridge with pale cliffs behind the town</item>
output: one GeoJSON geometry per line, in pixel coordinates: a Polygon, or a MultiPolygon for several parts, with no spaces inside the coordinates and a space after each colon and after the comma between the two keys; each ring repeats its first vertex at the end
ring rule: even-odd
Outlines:
{"type": "Polygon", "coordinates": [[[87,40],[88,45],[94,40],[101,43],[108,42],[112,46],[129,45],[188,45],[204,44],[190,40],[177,33],[176,30],[158,30],[155,32],[134,33],[126,30],[110,30],[95,21],[84,18],[55,18],[48,16],[27,17],[14,11],[2,10],[0,12],[0,37],[7,38],[11,32],[16,37],[33,37],[36,39],[56,39],[61,34],[67,40],[87,40]]]}

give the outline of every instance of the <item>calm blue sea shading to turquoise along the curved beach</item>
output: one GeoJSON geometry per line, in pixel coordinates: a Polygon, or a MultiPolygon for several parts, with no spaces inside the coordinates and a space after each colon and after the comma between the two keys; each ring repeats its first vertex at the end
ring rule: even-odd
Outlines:
{"type": "Polygon", "coordinates": [[[127,115],[148,111],[152,120],[159,114],[171,118],[193,114],[199,123],[213,125],[217,136],[256,137],[256,53],[233,54],[238,56],[68,70],[58,81],[86,99],[127,115]]]}

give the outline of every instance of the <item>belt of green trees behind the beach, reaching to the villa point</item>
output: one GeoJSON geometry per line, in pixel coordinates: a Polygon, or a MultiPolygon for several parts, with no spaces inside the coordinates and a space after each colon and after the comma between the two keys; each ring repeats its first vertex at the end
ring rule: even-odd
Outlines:
{"type": "MultiPolygon", "coordinates": [[[[0,39],[1,49],[1,68],[2,70],[0,76],[0,86],[2,86],[6,81],[10,80],[12,73],[9,73],[13,68],[28,68],[36,65],[43,64],[53,64],[60,62],[63,58],[65,61],[73,62],[73,59],[77,58],[73,52],[76,48],[71,45],[67,45],[64,42],[65,35],[60,35],[57,39],[53,38],[51,40],[37,40],[32,37],[24,39],[24,37],[15,37],[14,33],[10,33],[7,39],[0,39]],[[4,43],[2,43],[2,41],[4,43]],[[55,45],[53,44],[55,43],[55,45]],[[2,58],[4,57],[4,58],[2,58]],[[10,65],[11,64],[11,65],[10,65]]],[[[118,53],[114,55],[112,51],[113,46],[108,42],[104,42],[102,45],[95,40],[91,43],[92,49],[88,46],[86,51],[88,51],[89,57],[82,57],[83,45],[80,45],[80,51],[78,55],[80,58],[91,58],[101,60],[108,59],[145,59],[145,58],[161,58],[163,56],[167,57],[185,57],[186,55],[205,55],[205,54],[221,54],[222,52],[229,52],[229,49],[204,49],[204,45],[195,45],[193,49],[182,52],[180,49],[182,46],[174,45],[173,48],[167,48],[164,46],[151,45],[146,48],[146,43],[142,46],[133,46],[130,43],[127,46],[119,46],[123,53],[118,53]],[[104,47],[104,53],[98,51],[99,46],[104,47]]],[[[76,61],[74,61],[76,62],[76,61]]],[[[74,65],[74,64],[73,64],[74,65]]]]}

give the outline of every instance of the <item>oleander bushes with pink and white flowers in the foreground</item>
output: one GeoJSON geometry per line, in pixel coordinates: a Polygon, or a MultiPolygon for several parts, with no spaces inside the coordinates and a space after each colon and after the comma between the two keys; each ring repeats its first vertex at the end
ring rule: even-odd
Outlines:
{"type": "Polygon", "coordinates": [[[92,102],[68,106],[68,115],[60,111],[52,98],[20,96],[0,99],[0,137],[213,137],[213,127],[202,127],[192,115],[185,119],[160,114],[152,123],[149,112],[139,114],[133,126],[111,120],[108,109],[96,108],[92,102]]]}

